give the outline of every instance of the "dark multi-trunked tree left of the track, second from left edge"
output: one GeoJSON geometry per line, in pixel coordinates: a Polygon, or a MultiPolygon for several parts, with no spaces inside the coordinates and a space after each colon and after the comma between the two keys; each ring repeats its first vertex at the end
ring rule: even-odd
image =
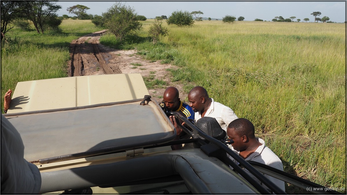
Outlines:
{"type": "Polygon", "coordinates": [[[23,1],[23,9],[21,17],[33,22],[37,33],[43,34],[44,26],[52,18],[57,18],[56,12],[61,9],[60,5],[56,5],[58,1],[23,1]],[[40,28],[40,29],[39,29],[40,28]]]}

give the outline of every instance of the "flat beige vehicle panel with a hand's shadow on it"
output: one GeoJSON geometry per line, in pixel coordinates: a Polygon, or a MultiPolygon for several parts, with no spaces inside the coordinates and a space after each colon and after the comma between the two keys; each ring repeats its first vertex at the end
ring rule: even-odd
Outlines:
{"type": "Polygon", "coordinates": [[[18,82],[7,113],[142,99],[141,74],[92,75],[18,82]]]}

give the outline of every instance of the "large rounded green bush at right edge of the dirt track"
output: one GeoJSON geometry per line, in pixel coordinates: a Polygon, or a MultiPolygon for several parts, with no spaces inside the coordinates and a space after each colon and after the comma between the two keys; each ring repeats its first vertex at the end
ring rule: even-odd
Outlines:
{"type": "Polygon", "coordinates": [[[121,2],[114,4],[103,13],[105,27],[121,42],[124,38],[142,29],[142,23],[137,21],[135,10],[123,5],[121,2]]]}

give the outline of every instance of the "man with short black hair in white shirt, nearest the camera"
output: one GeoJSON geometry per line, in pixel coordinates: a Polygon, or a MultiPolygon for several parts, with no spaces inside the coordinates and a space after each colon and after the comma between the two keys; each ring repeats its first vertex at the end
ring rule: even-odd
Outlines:
{"type": "MultiPolygon", "coordinates": [[[[231,150],[236,152],[246,161],[259,162],[283,171],[283,164],[281,159],[279,159],[275,153],[273,153],[268,147],[266,147],[263,139],[255,137],[254,131],[254,125],[252,124],[252,122],[245,118],[238,118],[230,122],[227,128],[227,135],[229,139],[232,139],[232,141],[234,141],[231,146],[229,145],[229,147],[231,147],[231,150]]],[[[230,155],[228,156],[236,164],[238,164],[238,162],[234,158],[232,158],[230,155]]],[[[259,179],[257,179],[253,175],[251,176],[260,184],[262,184],[259,179]]],[[[279,188],[281,188],[283,191],[285,190],[284,181],[265,174],[264,176],[279,188]]],[[[262,185],[267,188],[264,184],[262,185]]],[[[267,189],[269,190],[269,188],[267,189]]]]}

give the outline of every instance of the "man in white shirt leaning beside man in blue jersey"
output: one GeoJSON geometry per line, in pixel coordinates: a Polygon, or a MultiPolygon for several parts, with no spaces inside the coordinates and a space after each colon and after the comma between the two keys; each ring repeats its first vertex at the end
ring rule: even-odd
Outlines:
{"type": "Polygon", "coordinates": [[[188,94],[188,101],[190,102],[189,106],[195,112],[195,121],[202,117],[213,117],[218,121],[220,127],[227,131],[229,123],[237,119],[234,111],[229,107],[215,102],[209,97],[204,87],[194,87],[188,94]]]}

